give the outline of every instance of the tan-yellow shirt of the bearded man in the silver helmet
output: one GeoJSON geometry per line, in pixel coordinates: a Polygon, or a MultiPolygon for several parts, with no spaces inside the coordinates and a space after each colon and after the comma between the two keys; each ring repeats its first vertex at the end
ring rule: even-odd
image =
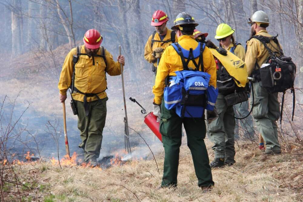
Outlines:
{"type": "MultiPolygon", "coordinates": [[[[266,30],[261,30],[256,35],[272,37],[270,34],[267,33],[266,30]]],[[[247,67],[248,76],[250,76],[252,71],[254,71],[255,69],[256,62],[258,62],[258,65],[261,67],[261,65],[267,61],[269,53],[266,50],[265,46],[262,44],[262,42],[256,38],[252,38],[251,40],[247,41],[246,44],[247,50],[245,54],[245,63],[247,67]]],[[[267,44],[268,48],[271,49],[273,52],[277,52],[277,50],[279,50],[278,45],[273,40],[270,41],[270,44],[267,44]]]]}

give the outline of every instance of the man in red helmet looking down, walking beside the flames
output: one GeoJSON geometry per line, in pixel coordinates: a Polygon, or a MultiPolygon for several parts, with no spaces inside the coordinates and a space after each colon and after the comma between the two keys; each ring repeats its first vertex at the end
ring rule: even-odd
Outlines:
{"type": "Polygon", "coordinates": [[[61,102],[65,101],[68,88],[72,89],[82,139],[79,147],[84,150],[84,161],[91,166],[98,165],[105,126],[106,73],[120,75],[120,64],[124,65],[125,61],[124,56],[119,55],[115,62],[112,55],[100,47],[102,40],[97,30],[88,30],[83,38],[84,45],[73,48],[66,56],[58,83],[61,102]]]}

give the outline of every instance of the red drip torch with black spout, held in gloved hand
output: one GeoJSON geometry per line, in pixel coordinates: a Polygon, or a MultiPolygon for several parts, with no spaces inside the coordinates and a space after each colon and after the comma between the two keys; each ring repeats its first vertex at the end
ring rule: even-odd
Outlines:
{"type": "MultiPolygon", "coordinates": [[[[131,101],[137,103],[141,108],[141,113],[146,114],[146,110],[139,104],[136,99],[134,98],[129,98],[131,101]]],[[[145,115],[144,117],[144,123],[151,129],[151,131],[159,138],[159,140],[162,142],[162,135],[159,131],[160,129],[160,123],[157,121],[157,117],[154,115],[153,112],[149,112],[148,114],[145,115]]]]}

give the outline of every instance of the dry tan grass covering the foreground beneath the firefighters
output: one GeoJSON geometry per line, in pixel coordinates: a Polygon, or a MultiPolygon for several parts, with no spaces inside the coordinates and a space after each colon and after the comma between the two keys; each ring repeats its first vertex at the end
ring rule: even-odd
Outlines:
{"type": "MultiPolygon", "coordinates": [[[[211,143],[208,140],[206,143],[212,160],[211,143]]],[[[177,189],[157,189],[163,173],[163,151],[156,156],[160,175],[155,161],[150,159],[129,161],[102,171],[78,166],[61,170],[49,162],[36,164],[35,170],[31,170],[32,165],[23,165],[20,177],[29,183],[35,180],[35,186],[28,190],[34,201],[303,200],[301,150],[294,149],[292,153],[265,157],[256,145],[239,145],[234,166],[213,169],[215,186],[213,191],[206,194],[201,193],[197,186],[191,154],[186,144],[181,146],[177,189]]],[[[158,147],[162,145],[158,144],[158,147]]],[[[13,188],[7,194],[13,195],[13,188]]],[[[23,195],[28,198],[26,194],[23,195]]]]}

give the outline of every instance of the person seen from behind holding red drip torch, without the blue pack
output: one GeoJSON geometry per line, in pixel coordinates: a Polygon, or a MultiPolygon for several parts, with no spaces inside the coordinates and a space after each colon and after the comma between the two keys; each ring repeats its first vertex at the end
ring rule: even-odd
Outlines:
{"type": "MultiPolygon", "coordinates": [[[[195,23],[194,18],[188,13],[181,12],[177,15],[172,29],[174,29],[178,36],[178,46],[180,46],[180,50],[183,48],[185,52],[191,51],[191,54],[193,55],[195,55],[193,52],[198,50],[198,56],[195,56],[194,58],[186,56],[187,58],[184,58],[185,56],[183,56],[183,54],[183,57],[179,55],[180,53],[176,51],[174,46],[168,46],[165,49],[158,66],[155,86],[153,87],[153,93],[155,95],[153,113],[155,116],[161,118],[160,132],[162,134],[162,143],[165,151],[161,187],[177,186],[179,151],[182,139],[181,128],[183,123],[187,134],[187,145],[191,150],[194,161],[195,173],[198,178],[198,186],[205,191],[213,186],[214,182],[212,180],[208,153],[204,143],[206,134],[204,114],[201,112],[201,114],[199,114],[199,118],[181,118],[180,115],[176,113],[177,108],[167,109],[165,107],[165,103],[167,103],[167,101],[164,101],[163,99],[165,86],[173,84],[171,82],[170,84],[167,83],[167,78],[176,76],[176,71],[182,72],[182,70],[189,69],[189,67],[191,69],[195,68],[198,71],[208,73],[210,76],[208,84],[214,88],[216,87],[215,59],[211,54],[211,51],[207,47],[203,50],[201,48],[203,47],[203,44],[199,44],[195,41],[192,35],[197,25],[198,23],[195,23]],[[201,50],[203,51],[200,52],[201,50]],[[202,63],[201,60],[203,61],[202,63]],[[186,65],[186,67],[184,65],[186,65]]],[[[202,87],[196,87],[196,89],[199,88],[202,87]]],[[[199,103],[203,103],[203,100],[197,101],[199,103]]],[[[171,103],[174,102],[175,101],[171,103]]]]}

